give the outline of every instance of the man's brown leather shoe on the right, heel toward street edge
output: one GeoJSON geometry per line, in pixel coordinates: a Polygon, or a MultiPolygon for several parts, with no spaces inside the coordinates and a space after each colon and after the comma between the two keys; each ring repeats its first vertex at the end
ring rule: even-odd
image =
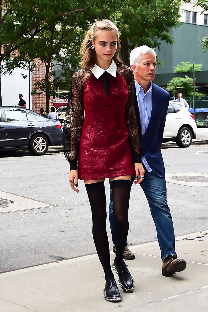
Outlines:
{"type": "Polygon", "coordinates": [[[176,272],[181,272],[186,269],[186,261],[183,259],[177,259],[175,256],[171,259],[167,259],[162,264],[162,275],[170,276],[176,272]]]}

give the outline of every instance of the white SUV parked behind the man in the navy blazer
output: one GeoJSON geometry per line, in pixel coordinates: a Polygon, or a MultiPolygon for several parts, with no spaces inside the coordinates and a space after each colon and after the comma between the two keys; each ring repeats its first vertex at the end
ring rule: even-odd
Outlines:
{"type": "Polygon", "coordinates": [[[196,139],[196,122],[182,103],[170,101],[166,116],[163,142],[174,141],[179,147],[188,147],[196,139]]]}

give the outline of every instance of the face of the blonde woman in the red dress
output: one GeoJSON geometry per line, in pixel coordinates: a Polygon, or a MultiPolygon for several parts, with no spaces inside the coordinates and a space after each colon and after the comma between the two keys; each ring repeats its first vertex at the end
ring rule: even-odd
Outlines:
{"type": "Polygon", "coordinates": [[[111,61],[117,49],[117,36],[111,30],[101,30],[92,41],[95,48],[98,63],[111,61]]]}

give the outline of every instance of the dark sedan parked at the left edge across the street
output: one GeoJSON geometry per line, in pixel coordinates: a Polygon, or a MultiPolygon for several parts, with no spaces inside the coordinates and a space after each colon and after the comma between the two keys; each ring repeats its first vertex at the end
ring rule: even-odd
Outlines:
{"type": "Polygon", "coordinates": [[[44,155],[49,145],[62,145],[62,136],[58,119],[27,108],[0,106],[0,152],[28,149],[32,155],[44,155]]]}

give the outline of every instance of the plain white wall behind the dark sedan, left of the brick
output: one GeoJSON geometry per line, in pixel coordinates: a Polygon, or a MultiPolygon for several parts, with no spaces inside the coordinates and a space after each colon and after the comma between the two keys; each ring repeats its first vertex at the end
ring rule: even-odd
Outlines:
{"type": "Polygon", "coordinates": [[[29,71],[26,70],[23,71],[22,69],[17,68],[13,71],[12,75],[1,75],[1,89],[2,89],[2,105],[18,106],[19,103],[18,94],[22,93],[23,100],[26,101],[27,108],[29,109],[32,108],[31,73],[29,73],[29,71]],[[27,78],[24,79],[21,76],[22,73],[24,73],[24,75],[27,75],[27,78]]]}

